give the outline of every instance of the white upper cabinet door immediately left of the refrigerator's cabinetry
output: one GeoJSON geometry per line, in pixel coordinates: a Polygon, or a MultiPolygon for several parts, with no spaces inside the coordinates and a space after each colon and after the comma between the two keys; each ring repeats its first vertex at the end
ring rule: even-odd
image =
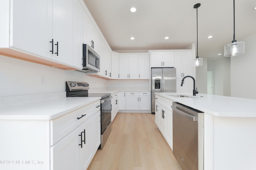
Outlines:
{"type": "Polygon", "coordinates": [[[139,55],[139,79],[149,79],[149,56],[139,55]]]}

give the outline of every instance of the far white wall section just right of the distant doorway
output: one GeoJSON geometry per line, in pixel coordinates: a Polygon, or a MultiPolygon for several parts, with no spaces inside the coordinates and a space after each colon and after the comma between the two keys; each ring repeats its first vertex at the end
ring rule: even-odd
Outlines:
{"type": "Polygon", "coordinates": [[[207,70],[214,72],[214,94],[231,96],[230,93],[230,57],[208,60],[207,70]]]}

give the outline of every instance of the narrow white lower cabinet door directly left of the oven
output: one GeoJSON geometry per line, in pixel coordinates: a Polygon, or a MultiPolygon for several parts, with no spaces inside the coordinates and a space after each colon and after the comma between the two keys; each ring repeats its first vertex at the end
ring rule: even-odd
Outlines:
{"type": "Polygon", "coordinates": [[[101,135],[100,135],[100,111],[98,111],[92,118],[92,154],[96,153],[100,146],[101,135]]]}

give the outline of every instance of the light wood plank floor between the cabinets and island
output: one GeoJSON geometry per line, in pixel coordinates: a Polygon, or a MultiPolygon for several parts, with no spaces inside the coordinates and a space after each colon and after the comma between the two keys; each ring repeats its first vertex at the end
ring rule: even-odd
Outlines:
{"type": "Polygon", "coordinates": [[[151,113],[118,113],[88,170],[181,170],[151,113]]]}

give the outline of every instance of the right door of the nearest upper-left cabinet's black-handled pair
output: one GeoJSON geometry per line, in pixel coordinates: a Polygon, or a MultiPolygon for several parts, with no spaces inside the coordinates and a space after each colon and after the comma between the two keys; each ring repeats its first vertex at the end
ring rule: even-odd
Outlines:
{"type": "Polygon", "coordinates": [[[52,38],[54,39],[54,53],[57,53],[58,51],[58,56],[57,54],[54,54],[53,59],[69,65],[73,64],[73,53],[71,49],[73,47],[72,11],[73,0],[53,0],[52,38]]]}

